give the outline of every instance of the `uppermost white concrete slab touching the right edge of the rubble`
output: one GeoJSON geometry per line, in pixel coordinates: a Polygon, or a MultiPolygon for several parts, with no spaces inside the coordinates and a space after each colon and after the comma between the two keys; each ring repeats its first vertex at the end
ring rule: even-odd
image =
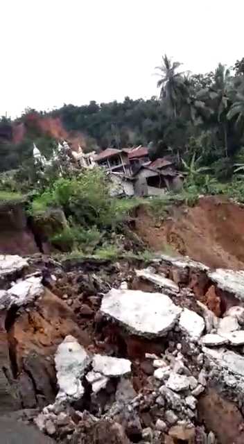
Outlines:
{"type": "Polygon", "coordinates": [[[236,298],[244,300],[244,271],[217,268],[216,271],[208,271],[207,275],[216,282],[218,288],[233,293],[236,298]]]}

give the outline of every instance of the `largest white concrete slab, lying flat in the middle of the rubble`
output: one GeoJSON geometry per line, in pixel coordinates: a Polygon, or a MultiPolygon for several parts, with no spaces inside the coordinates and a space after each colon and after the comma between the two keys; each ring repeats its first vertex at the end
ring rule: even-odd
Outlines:
{"type": "Polygon", "coordinates": [[[119,321],[131,334],[164,336],[182,311],[163,293],[111,289],[103,296],[101,312],[119,321]]]}

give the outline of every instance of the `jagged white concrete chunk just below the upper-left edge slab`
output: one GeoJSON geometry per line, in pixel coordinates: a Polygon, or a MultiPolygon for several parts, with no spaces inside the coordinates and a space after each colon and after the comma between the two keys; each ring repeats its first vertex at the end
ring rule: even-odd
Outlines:
{"type": "Polygon", "coordinates": [[[43,292],[44,287],[41,276],[30,276],[26,280],[20,280],[8,290],[11,302],[18,306],[32,302],[35,298],[42,295],[43,292]]]}

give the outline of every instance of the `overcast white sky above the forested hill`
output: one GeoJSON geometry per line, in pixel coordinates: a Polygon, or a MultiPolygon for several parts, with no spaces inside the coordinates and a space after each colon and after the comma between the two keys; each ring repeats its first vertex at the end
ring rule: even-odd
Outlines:
{"type": "Polygon", "coordinates": [[[0,0],[0,114],[157,94],[162,53],[206,72],[244,56],[243,0],[0,0]]]}

